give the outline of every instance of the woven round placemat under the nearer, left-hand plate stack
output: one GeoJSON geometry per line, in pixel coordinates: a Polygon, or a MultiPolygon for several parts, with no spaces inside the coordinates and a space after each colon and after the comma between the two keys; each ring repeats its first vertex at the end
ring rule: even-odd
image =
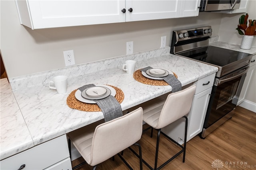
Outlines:
{"type": "MultiPolygon", "coordinates": [[[[110,87],[113,87],[116,90],[115,98],[118,101],[118,103],[122,103],[124,100],[124,92],[119,89],[118,87],[108,85],[110,87]]],[[[75,93],[78,89],[72,91],[67,98],[67,105],[72,109],[77,109],[80,111],[87,111],[87,112],[100,112],[101,109],[97,104],[91,104],[91,103],[84,103],[76,99],[75,93]]]]}

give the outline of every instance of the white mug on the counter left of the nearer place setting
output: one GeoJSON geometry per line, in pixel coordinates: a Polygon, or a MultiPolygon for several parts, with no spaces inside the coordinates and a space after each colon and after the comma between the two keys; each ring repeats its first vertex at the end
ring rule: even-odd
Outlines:
{"type": "Polygon", "coordinates": [[[59,94],[66,93],[68,86],[68,77],[65,75],[58,75],[53,77],[53,81],[49,81],[50,89],[56,89],[59,94]],[[51,84],[54,84],[52,86],[51,84]]]}

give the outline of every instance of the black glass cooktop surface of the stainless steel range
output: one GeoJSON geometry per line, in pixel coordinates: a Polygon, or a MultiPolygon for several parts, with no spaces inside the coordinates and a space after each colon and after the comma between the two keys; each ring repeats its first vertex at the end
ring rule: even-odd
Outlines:
{"type": "Polygon", "coordinates": [[[214,46],[201,47],[177,54],[220,67],[242,60],[251,55],[214,46]]]}

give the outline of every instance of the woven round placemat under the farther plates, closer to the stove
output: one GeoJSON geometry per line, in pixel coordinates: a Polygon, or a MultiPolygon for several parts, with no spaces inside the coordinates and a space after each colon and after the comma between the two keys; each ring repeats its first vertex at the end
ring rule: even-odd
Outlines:
{"type": "MultiPolygon", "coordinates": [[[[176,77],[176,79],[178,78],[178,76],[172,72],[173,75],[176,77]]],[[[133,78],[135,80],[137,80],[140,83],[146,84],[146,85],[169,85],[168,83],[166,83],[166,81],[164,80],[154,80],[154,79],[149,79],[147,77],[144,77],[144,75],[142,75],[140,69],[135,71],[133,73],[133,78]]]]}

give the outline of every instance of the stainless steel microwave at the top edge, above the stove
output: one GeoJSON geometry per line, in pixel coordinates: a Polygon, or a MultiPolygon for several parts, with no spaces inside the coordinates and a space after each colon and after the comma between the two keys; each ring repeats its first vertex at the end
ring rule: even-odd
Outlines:
{"type": "Polygon", "coordinates": [[[241,0],[201,0],[200,12],[239,9],[241,0]]]}

